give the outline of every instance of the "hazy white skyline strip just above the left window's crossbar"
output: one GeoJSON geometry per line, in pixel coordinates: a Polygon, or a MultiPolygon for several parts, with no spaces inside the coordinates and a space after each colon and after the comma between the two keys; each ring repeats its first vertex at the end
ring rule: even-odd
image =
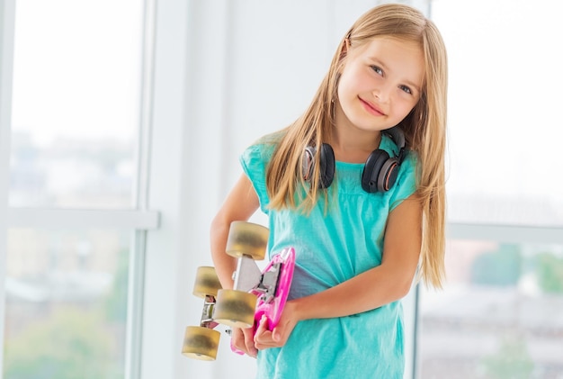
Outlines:
{"type": "Polygon", "coordinates": [[[45,146],[13,131],[9,203],[13,207],[130,208],[135,141],[58,138],[45,146]]]}

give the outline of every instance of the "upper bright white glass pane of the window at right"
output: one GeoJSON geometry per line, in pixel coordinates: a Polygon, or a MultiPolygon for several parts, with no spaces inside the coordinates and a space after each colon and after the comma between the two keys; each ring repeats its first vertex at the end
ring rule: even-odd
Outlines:
{"type": "Polygon", "coordinates": [[[433,0],[450,60],[451,221],[563,225],[563,2],[433,0]]]}

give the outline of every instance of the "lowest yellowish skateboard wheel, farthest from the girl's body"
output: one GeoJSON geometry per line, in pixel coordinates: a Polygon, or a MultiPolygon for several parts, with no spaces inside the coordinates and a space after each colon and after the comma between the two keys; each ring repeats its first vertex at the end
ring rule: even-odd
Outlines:
{"type": "Polygon", "coordinates": [[[204,327],[187,327],[183,335],[182,354],[194,359],[214,361],[219,348],[219,331],[204,327]]]}

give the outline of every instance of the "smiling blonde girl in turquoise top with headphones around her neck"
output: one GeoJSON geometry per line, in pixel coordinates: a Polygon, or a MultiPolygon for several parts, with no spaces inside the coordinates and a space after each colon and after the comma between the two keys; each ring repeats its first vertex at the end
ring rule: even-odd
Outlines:
{"type": "Polygon", "coordinates": [[[273,331],[234,329],[259,378],[402,378],[402,308],[418,275],[444,276],[447,61],[440,32],[380,5],[345,34],[308,110],[241,157],[211,224],[219,280],[231,221],[268,214],[269,251],[293,247],[289,302],[273,331]]]}

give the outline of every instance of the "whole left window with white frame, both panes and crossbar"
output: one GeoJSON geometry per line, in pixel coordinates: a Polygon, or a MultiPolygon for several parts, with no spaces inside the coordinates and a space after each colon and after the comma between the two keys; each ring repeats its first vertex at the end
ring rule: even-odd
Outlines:
{"type": "Polygon", "coordinates": [[[15,5],[2,377],[139,377],[145,3],[15,5]]]}

